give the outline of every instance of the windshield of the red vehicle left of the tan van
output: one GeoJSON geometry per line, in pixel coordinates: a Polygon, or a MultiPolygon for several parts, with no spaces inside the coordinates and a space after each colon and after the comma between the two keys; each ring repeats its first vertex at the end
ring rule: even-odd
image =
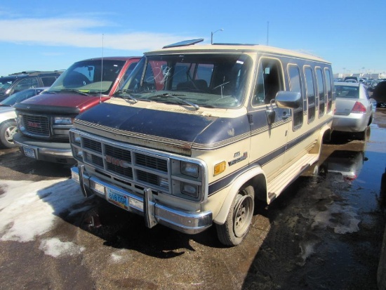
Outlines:
{"type": "Polygon", "coordinates": [[[75,62],[53,83],[48,92],[78,91],[87,95],[108,95],[124,60],[84,60],[75,62]]]}

